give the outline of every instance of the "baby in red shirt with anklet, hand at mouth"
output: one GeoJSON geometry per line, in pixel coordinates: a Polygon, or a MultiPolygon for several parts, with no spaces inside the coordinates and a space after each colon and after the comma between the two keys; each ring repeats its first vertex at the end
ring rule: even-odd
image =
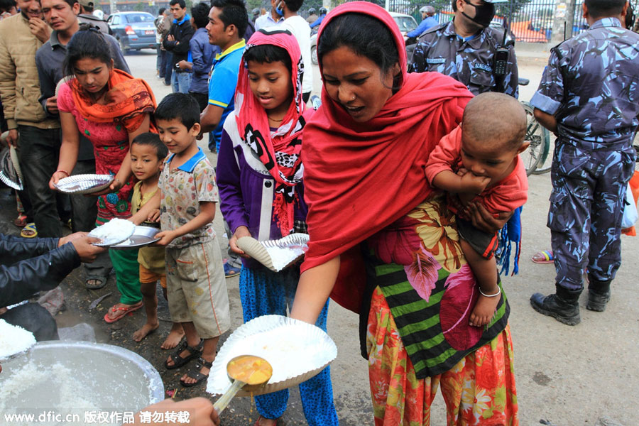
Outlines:
{"type": "Polygon", "coordinates": [[[498,236],[476,229],[469,204],[488,212],[512,212],[528,198],[528,178],[519,153],[524,141],[526,113],[513,97],[486,92],[471,99],[461,124],[444,136],[426,165],[432,187],[449,193],[449,209],[457,216],[461,250],[479,282],[479,299],[470,324],[482,327],[495,313],[501,289],[494,257],[498,236]]]}

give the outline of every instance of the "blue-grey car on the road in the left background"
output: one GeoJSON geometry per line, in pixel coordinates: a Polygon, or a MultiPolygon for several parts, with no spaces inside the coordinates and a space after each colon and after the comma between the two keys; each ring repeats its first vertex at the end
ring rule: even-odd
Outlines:
{"type": "Polygon", "coordinates": [[[146,12],[117,12],[107,23],[120,43],[122,53],[129,50],[155,49],[155,17],[146,12]]]}

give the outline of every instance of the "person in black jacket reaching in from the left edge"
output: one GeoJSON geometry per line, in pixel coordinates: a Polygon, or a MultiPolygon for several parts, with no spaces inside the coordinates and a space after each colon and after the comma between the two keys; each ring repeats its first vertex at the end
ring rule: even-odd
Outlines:
{"type": "Polygon", "coordinates": [[[99,240],[76,232],[58,238],[22,239],[0,234],[0,319],[33,333],[35,340],[58,339],[58,327],[45,308],[27,303],[41,290],[57,287],[80,261],[92,262],[106,249],[93,246],[99,240]]]}

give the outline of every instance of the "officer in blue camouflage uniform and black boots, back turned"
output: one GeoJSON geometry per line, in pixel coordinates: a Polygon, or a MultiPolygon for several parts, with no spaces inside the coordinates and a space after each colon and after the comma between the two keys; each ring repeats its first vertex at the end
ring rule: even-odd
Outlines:
{"type": "Polygon", "coordinates": [[[535,117],[557,135],[547,226],[557,269],[556,293],[530,297],[559,322],[580,321],[581,275],[586,309],[603,311],[621,264],[621,217],[634,170],[639,124],[639,35],[623,28],[626,0],[586,0],[589,30],[553,48],[532,97],[535,117]]]}

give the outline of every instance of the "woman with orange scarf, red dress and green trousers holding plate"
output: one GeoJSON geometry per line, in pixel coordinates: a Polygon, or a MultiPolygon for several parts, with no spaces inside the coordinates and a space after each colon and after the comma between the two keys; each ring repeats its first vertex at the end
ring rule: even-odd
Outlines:
{"type": "MultiPolygon", "coordinates": [[[[151,127],[150,116],[155,110],[151,87],[114,69],[109,44],[94,28],[73,35],[67,45],[65,68],[67,75],[75,78],[61,84],[58,92],[62,145],[58,169],[49,186],[55,189],[53,184],[75,167],[82,132],[93,144],[96,173],[114,177],[109,188],[94,194],[99,196],[96,225],[131,217],[135,182],[129,146],[133,138],[151,127]]],[[[109,256],[121,296],[104,320],[115,322],[142,307],[142,294],[137,251],[109,250],[109,256]]]]}

